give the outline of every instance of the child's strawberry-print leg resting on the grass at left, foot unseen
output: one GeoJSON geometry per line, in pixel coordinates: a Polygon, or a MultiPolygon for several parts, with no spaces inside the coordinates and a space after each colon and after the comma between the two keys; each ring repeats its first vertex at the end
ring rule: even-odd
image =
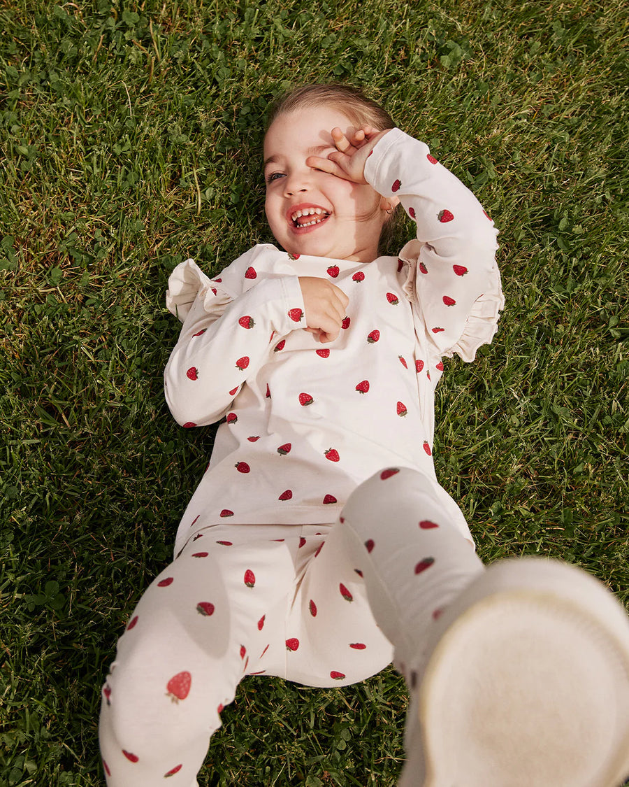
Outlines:
{"type": "Polygon", "coordinates": [[[146,590],[102,690],[109,787],[196,785],[238,682],[283,659],[294,567],[277,535],[207,528],[146,590]]]}

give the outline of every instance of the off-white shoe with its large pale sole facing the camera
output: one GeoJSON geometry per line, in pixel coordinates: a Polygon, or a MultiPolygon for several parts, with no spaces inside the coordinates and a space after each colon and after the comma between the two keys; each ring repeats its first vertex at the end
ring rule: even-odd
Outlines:
{"type": "Polygon", "coordinates": [[[618,787],[629,775],[629,618],[597,579],[498,561],[432,642],[399,787],[618,787]]]}

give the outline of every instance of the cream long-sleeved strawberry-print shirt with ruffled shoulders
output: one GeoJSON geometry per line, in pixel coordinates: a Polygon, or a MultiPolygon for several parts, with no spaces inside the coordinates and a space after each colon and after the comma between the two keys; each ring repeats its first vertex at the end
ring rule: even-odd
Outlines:
{"type": "Polygon", "coordinates": [[[184,427],[224,419],[175,552],[216,523],[333,522],[383,467],[434,478],[442,359],[473,360],[504,303],[497,231],[428,147],[399,129],[374,147],[365,176],[417,224],[398,257],[292,257],[264,244],[215,279],[193,260],[171,275],[167,307],[183,326],[164,372],[168,406],[184,427]],[[349,297],[334,342],[302,330],[302,275],[349,297]]]}

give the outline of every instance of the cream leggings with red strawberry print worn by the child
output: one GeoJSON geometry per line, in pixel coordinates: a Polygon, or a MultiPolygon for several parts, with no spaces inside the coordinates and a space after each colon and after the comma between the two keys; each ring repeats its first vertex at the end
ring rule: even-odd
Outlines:
{"type": "MultiPolygon", "coordinates": [[[[102,688],[109,787],[196,787],[245,675],[342,686],[414,674],[440,611],[483,565],[432,478],[388,468],[334,524],[200,530],[131,614],[102,688]]],[[[259,679],[259,678],[258,678],[259,679]]]]}

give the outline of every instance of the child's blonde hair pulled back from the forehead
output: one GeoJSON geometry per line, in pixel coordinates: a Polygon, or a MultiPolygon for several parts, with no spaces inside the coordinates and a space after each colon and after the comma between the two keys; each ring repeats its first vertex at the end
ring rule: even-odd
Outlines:
{"type": "MultiPolygon", "coordinates": [[[[267,114],[266,131],[281,115],[288,115],[296,109],[310,109],[321,105],[339,109],[355,127],[372,126],[377,131],[395,127],[395,121],[386,109],[372,98],[367,98],[358,87],[328,82],[302,85],[276,98],[267,114]]],[[[402,206],[396,205],[382,227],[378,242],[380,253],[384,253],[389,242],[392,241],[402,216],[402,206]]]]}

